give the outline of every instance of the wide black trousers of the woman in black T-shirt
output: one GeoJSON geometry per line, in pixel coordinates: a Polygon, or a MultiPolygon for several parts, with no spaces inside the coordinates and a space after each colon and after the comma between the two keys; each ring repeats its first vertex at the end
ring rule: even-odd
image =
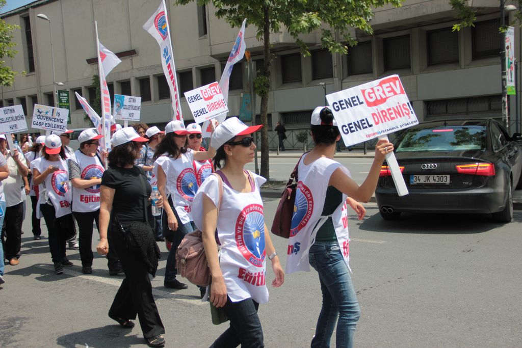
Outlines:
{"type": "Polygon", "coordinates": [[[109,239],[109,250],[111,248],[116,249],[125,271],[125,279],[114,297],[111,313],[122,319],[136,319],[137,314],[146,339],[165,333],[152,296],[149,273],[141,255],[128,250],[123,239],[117,237],[109,239]]]}

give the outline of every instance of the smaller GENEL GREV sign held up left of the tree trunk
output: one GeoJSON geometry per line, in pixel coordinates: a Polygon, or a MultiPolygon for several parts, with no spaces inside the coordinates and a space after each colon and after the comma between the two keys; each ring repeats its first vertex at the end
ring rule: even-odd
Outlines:
{"type": "Polygon", "coordinates": [[[223,113],[228,113],[227,102],[223,98],[218,82],[185,92],[188,107],[195,123],[203,123],[223,113]]]}

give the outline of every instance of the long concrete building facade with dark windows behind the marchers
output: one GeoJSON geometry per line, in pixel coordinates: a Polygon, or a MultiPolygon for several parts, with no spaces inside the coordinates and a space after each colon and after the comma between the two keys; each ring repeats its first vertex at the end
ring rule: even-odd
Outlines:
{"type": "MultiPolygon", "coordinates": [[[[211,6],[165,3],[180,90],[219,81],[239,29],[216,18],[211,6]]],[[[92,84],[97,74],[96,20],[100,41],[122,59],[107,76],[111,93],[140,96],[143,122],[168,122],[172,109],[159,46],[142,28],[158,5],[157,0],[40,0],[3,14],[7,23],[20,30],[14,38],[18,54],[6,59],[6,65],[19,74],[13,87],[2,88],[1,102],[22,104],[28,122],[34,103],[53,104],[50,25],[37,17],[45,14],[51,20],[56,82],[64,84],[58,89],[67,89],[71,95],[69,128],[87,127],[74,92],[91,101],[96,97],[92,84]]],[[[269,130],[281,121],[289,130],[287,146],[299,147],[295,131],[309,127],[311,111],[325,103],[325,93],[392,74],[400,75],[421,122],[448,116],[501,117],[499,2],[482,0],[481,5],[476,26],[460,32],[451,30],[456,19],[448,0],[407,0],[401,8],[376,9],[371,20],[374,33],[354,31],[359,44],[347,56],[323,50],[319,32],[302,37],[312,52],[307,57],[299,53],[288,32],[272,33],[276,58],[271,67],[269,130]]],[[[514,16],[506,13],[506,18],[514,16]]],[[[518,26],[515,42],[520,42],[518,26]]],[[[254,67],[262,63],[262,43],[254,28],[247,27],[245,43],[254,67]]],[[[520,45],[515,47],[515,57],[520,60],[520,45]]],[[[245,61],[235,65],[229,115],[240,113],[242,95],[250,90],[247,75],[245,61]]],[[[257,98],[257,114],[259,102],[257,98]]],[[[512,128],[515,106],[511,97],[512,128]]],[[[182,110],[190,123],[192,115],[184,98],[182,110]]],[[[273,132],[270,137],[275,147],[273,132]]]]}

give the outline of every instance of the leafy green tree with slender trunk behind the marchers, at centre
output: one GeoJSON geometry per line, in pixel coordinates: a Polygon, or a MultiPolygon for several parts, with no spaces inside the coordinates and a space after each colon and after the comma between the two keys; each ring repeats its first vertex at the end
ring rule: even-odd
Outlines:
{"type": "MultiPolygon", "coordinates": [[[[193,0],[177,0],[185,5],[193,0]]],[[[321,44],[331,53],[347,54],[348,46],[357,43],[351,28],[372,33],[372,10],[386,4],[400,6],[401,0],[197,0],[198,4],[211,3],[216,17],[223,18],[233,28],[240,27],[243,19],[257,30],[257,39],[263,42],[264,66],[255,81],[256,93],[261,97],[261,175],[269,178],[268,165],[268,91],[270,89],[271,53],[270,33],[286,29],[304,56],[310,55],[300,34],[321,31],[321,44]],[[339,38],[339,39],[337,39],[339,38]]]]}

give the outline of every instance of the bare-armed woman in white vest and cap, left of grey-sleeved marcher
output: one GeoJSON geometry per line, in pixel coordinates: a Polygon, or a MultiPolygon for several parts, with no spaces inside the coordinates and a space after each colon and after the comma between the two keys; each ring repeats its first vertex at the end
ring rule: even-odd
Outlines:
{"type": "Polygon", "coordinates": [[[45,137],[42,151],[43,156],[31,163],[33,182],[34,185],[41,185],[40,191],[42,186],[45,188],[45,194],[38,198],[38,208],[49,232],[54,273],[62,274],[64,266],[73,266],[73,262],[65,254],[67,236],[72,234],[71,230],[74,231],[73,214],[70,210],[69,167],[62,141],[57,135],[45,137]]]}

